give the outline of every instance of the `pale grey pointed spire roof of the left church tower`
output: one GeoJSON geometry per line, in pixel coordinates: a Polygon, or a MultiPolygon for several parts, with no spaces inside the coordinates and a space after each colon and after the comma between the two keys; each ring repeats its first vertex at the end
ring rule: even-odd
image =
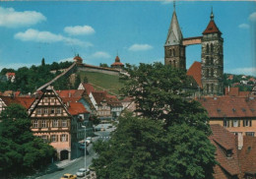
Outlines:
{"type": "Polygon", "coordinates": [[[172,14],[171,23],[168,30],[168,35],[165,41],[165,46],[182,44],[182,38],[183,35],[178,25],[176,12],[174,11],[172,14]]]}

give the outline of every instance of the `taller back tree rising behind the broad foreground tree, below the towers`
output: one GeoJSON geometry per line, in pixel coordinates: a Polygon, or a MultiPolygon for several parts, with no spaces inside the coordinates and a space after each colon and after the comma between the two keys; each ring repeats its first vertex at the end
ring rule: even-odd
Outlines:
{"type": "Polygon", "coordinates": [[[161,63],[127,65],[129,76],[123,76],[124,95],[133,96],[137,104],[136,112],[142,116],[164,120],[165,127],[186,122],[199,130],[209,133],[206,110],[191,94],[191,79],[183,70],[171,68],[161,63]]]}

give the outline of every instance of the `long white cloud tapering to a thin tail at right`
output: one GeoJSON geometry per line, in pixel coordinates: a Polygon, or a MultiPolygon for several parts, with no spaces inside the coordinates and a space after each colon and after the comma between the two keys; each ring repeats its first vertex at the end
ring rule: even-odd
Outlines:
{"type": "Polygon", "coordinates": [[[25,32],[18,32],[14,35],[16,39],[22,41],[35,41],[35,42],[64,42],[69,45],[79,45],[79,46],[93,46],[90,42],[83,42],[76,38],[65,37],[61,34],[54,34],[50,31],[38,31],[38,30],[26,30],[25,32]]]}

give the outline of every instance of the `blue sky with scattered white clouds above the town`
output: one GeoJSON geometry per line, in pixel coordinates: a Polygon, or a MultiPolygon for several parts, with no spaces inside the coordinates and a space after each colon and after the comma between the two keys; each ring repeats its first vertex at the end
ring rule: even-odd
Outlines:
{"type": "MultiPolygon", "coordinates": [[[[256,2],[176,1],[183,37],[200,36],[210,22],[223,32],[224,73],[256,76],[256,2]]],[[[111,65],[164,63],[171,1],[0,1],[0,69],[72,60],[111,65]]],[[[187,69],[201,45],[186,47],[187,69]]]]}

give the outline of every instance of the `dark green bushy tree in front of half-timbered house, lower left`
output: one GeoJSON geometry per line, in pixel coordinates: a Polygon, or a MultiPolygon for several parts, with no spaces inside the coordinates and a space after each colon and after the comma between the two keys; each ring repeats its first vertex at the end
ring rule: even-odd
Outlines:
{"type": "Polygon", "coordinates": [[[31,173],[51,161],[55,150],[32,135],[31,120],[23,106],[11,104],[0,119],[1,176],[31,173]]]}

